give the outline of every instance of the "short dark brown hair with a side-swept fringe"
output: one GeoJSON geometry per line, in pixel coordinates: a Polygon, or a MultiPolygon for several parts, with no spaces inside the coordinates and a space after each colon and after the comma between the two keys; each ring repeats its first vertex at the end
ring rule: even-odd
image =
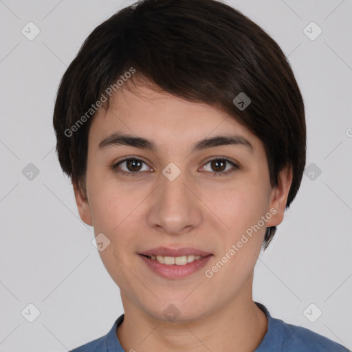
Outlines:
{"type": "MultiPolygon", "coordinates": [[[[305,168],[300,89],[278,44],[241,12],[215,0],[138,1],[89,34],[63,75],[54,107],[56,153],[76,185],[85,189],[94,117],[87,111],[131,67],[137,72],[132,80],[144,77],[179,98],[221,107],[248,127],[265,146],[272,187],[291,165],[289,207],[305,168]],[[251,100],[243,110],[233,102],[241,92],[251,100]]],[[[264,248],[275,232],[275,226],[266,229],[264,248]]]]}

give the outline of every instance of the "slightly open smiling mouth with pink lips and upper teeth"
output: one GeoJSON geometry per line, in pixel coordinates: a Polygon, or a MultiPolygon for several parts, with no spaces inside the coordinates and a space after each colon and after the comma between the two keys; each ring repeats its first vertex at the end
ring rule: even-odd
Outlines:
{"type": "Polygon", "coordinates": [[[164,278],[184,278],[198,272],[213,254],[195,248],[154,248],[138,253],[153,274],[164,278]]]}

